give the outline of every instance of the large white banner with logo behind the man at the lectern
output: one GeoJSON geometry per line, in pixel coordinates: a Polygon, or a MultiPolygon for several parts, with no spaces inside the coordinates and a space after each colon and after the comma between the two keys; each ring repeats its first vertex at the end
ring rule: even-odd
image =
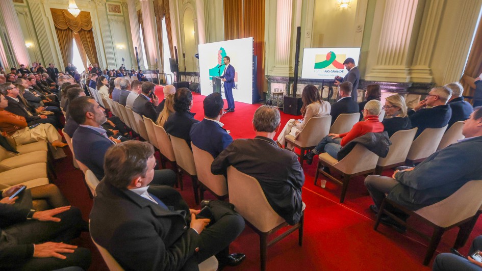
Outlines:
{"type": "MultiPolygon", "coordinates": [[[[252,38],[219,41],[199,44],[199,76],[201,94],[213,93],[212,76],[222,75],[224,72],[223,58],[231,59],[230,65],[234,67],[233,97],[235,101],[252,103],[252,38]],[[221,65],[221,66],[220,66],[221,65]]],[[[222,97],[224,84],[221,85],[222,97]]]]}

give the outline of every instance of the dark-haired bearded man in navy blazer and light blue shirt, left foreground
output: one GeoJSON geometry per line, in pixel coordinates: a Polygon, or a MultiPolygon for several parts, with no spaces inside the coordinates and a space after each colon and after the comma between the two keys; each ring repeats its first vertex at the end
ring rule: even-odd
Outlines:
{"type": "MultiPolygon", "coordinates": [[[[107,137],[100,125],[107,121],[104,109],[91,97],[78,97],[69,105],[72,119],[80,126],[72,137],[75,158],[87,166],[97,177],[104,178],[104,156],[107,149],[120,140],[107,137]]],[[[155,183],[173,186],[176,174],[172,170],[156,170],[155,183]]]]}

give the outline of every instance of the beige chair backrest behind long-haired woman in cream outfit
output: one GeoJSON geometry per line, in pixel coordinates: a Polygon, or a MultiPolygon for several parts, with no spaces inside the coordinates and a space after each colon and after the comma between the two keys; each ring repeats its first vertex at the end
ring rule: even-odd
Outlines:
{"type": "Polygon", "coordinates": [[[328,134],[331,123],[330,115],[311,118],[295,139],[301,146],[316,146],[328,134]]]}

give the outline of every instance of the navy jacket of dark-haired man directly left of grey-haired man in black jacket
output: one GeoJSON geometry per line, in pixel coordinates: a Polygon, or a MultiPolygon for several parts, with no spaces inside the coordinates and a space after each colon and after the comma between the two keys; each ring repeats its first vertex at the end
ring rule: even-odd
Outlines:
{"type": "Polygon", "coordinates": [[[189,133],[192,144],[209,152],[214,158],[233,142],[233,138],[218,123],[204,119],[194,123],[189,133]]]}

